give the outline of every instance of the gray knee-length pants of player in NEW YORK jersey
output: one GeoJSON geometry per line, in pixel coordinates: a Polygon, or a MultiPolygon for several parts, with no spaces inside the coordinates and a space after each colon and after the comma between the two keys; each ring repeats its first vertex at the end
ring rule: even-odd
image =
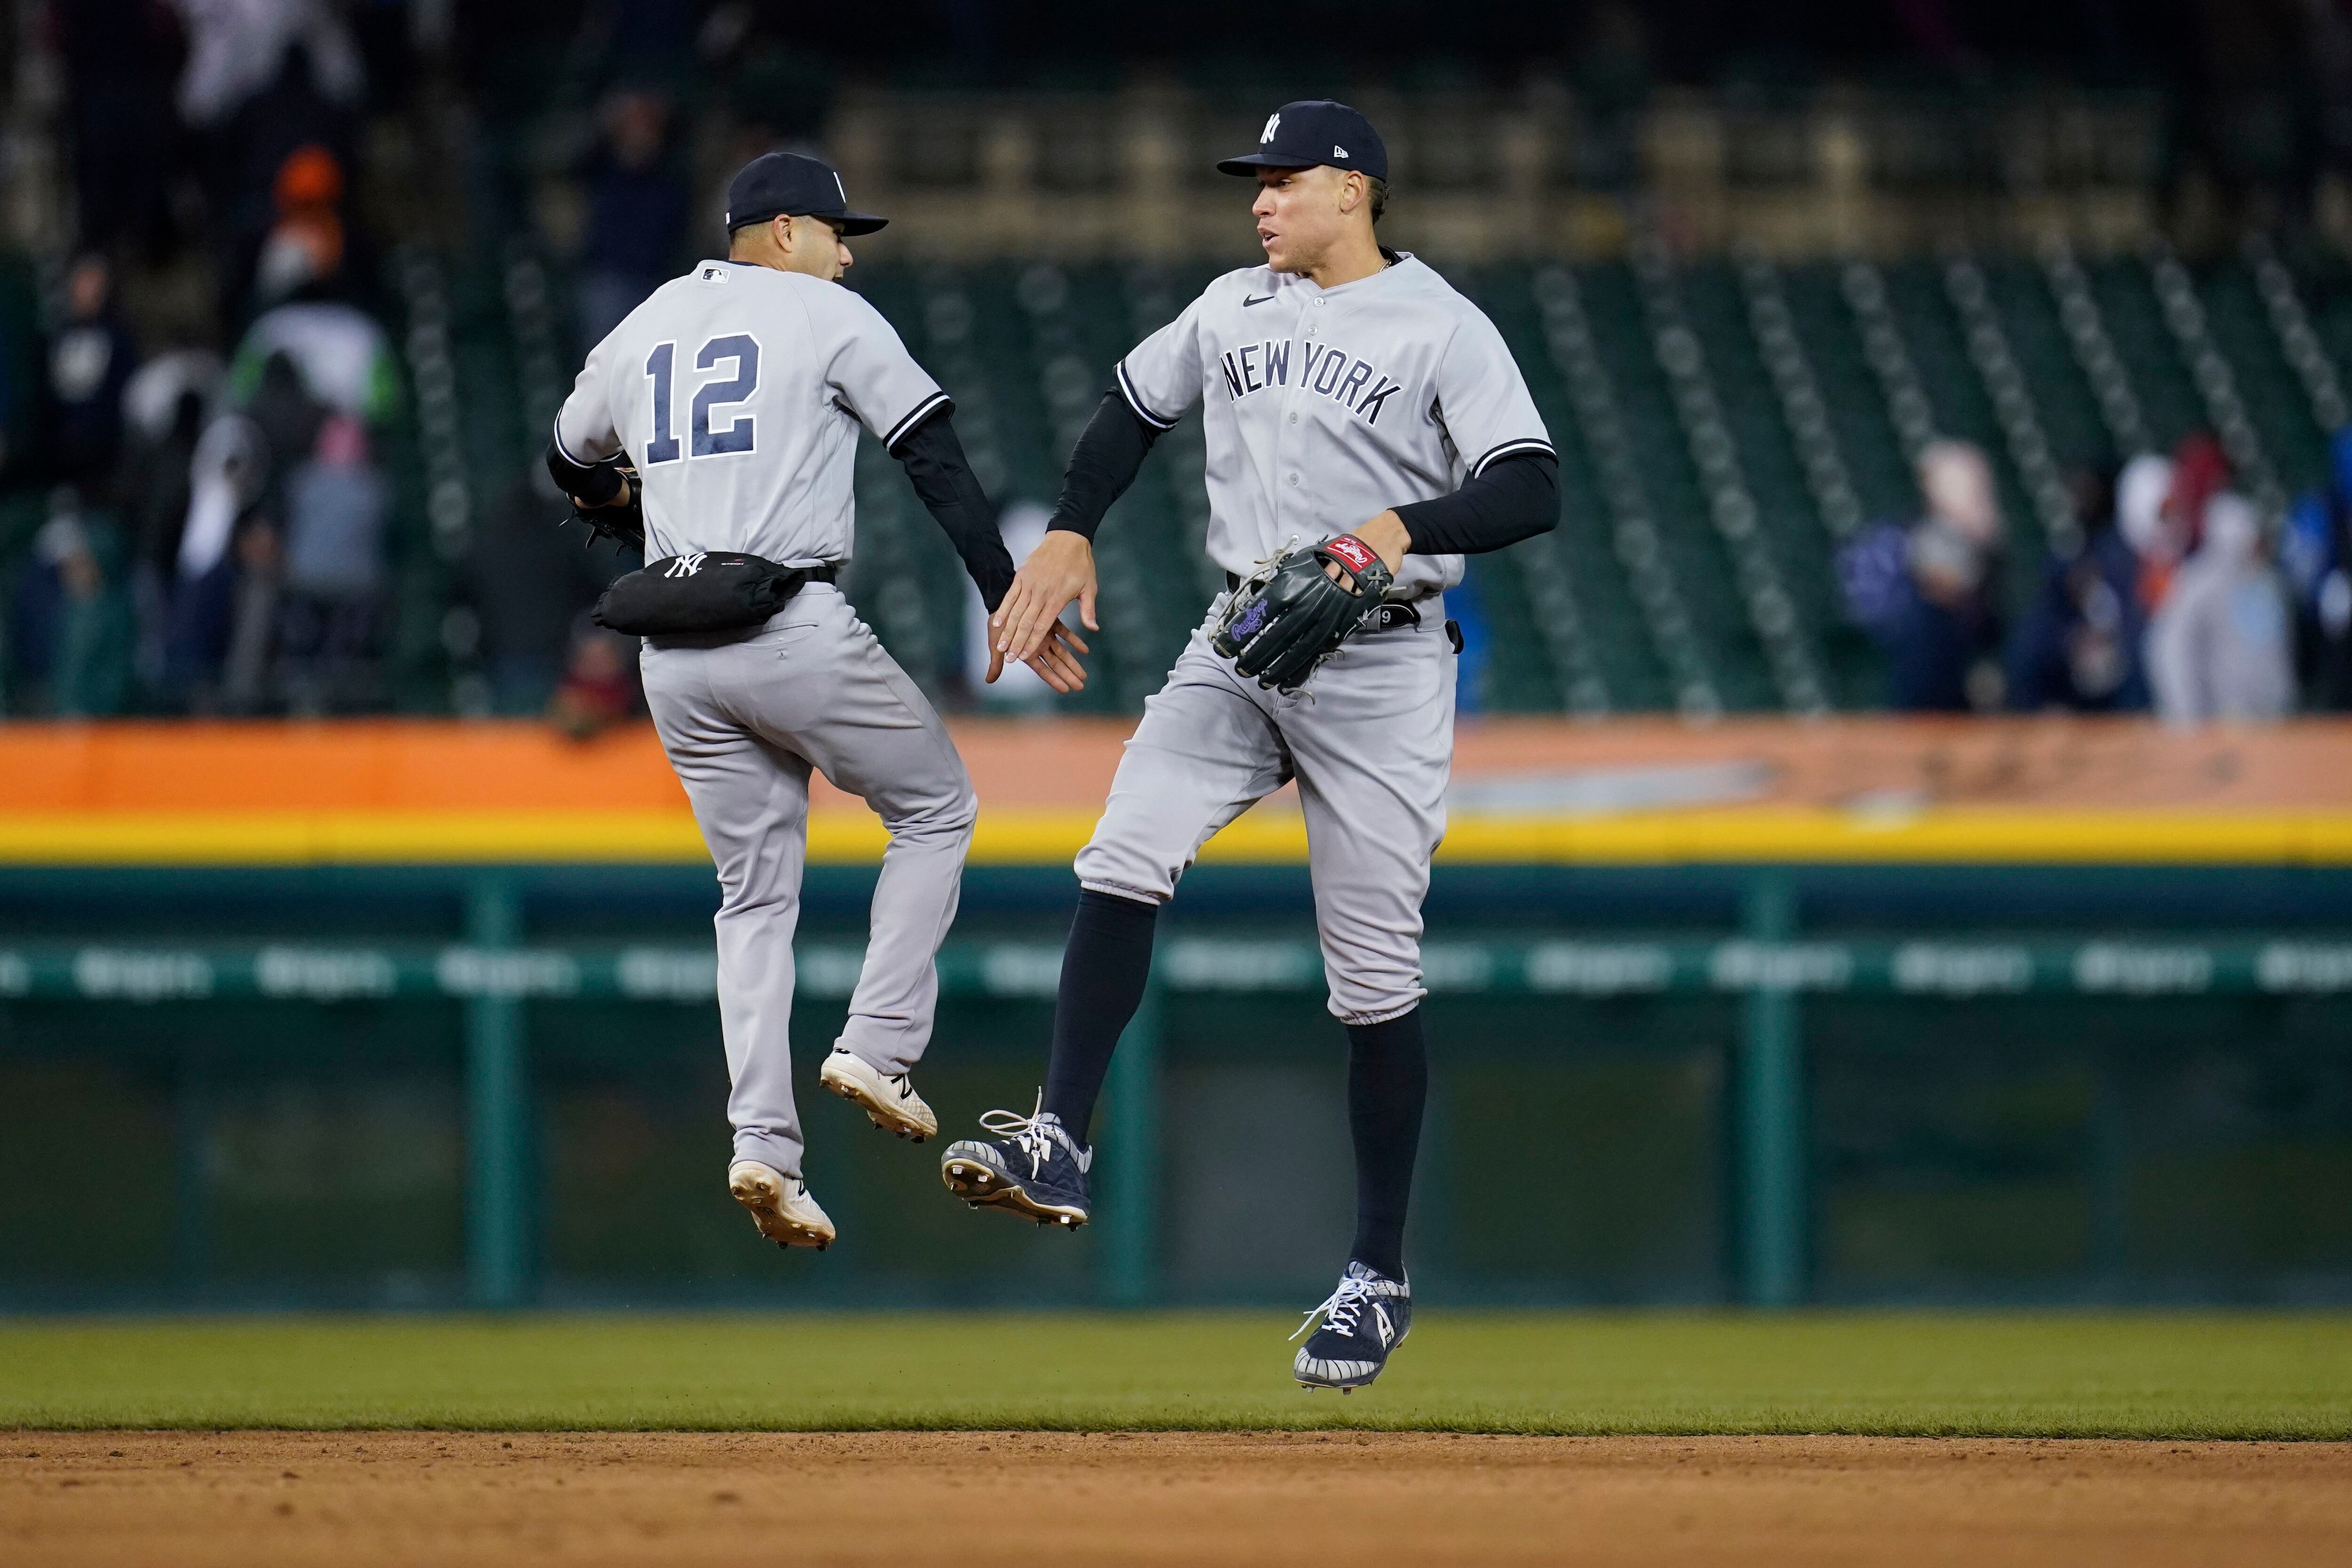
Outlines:
{"type": "Polygon", "coordinates": [[[1418,628],[1350,637],[1301,696],[1265,691],[1209,649],[1221,609],[1143,703],[1077,879],[1167,903],[1209,835],[1296,778],[1331,1013],[1409,1013],[1428,994],[1421,900],[1454,769],[1444,599],[1418,602],[1418,628]]]}

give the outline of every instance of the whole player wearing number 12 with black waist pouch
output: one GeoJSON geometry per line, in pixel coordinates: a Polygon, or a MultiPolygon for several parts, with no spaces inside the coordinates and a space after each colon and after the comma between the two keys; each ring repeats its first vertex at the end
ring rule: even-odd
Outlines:
{"type": "MultiPolygon", "coordinates": [[[[882,223],[851,212],[814,158],[746,165],[727,188],[727,261],[666,282],[588,353],[548,451],[593,527],[628,534],[616,517],[642,517],[652,564],[614,585],[600,618],[673,628],[644,642],[644,696],[722,889],[727,1187],[779,1246],[835,1237],[802,1180],[788,1037],[809,771],[889,827],[866,964],[821,1081],[901,1138],[938,1131],[908,1070],[931,1037],[934,954],[976,816],[938,715],[835,585],[858,425],[906,465],[985,604],[1014,576],[948,395],[837,287],[842,240],[882,223]],[[623,602],[635,618],[614,611],[623,602]]],[[[1070,691],[1084,679],[1073,649],[1084,644],[1056,632],[1028,663],[1070,691]]]]}

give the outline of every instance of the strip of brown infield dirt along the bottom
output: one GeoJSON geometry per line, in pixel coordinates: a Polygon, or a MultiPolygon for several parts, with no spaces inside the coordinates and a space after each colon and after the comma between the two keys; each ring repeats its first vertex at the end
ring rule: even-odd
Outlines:
{"type": "Polygon", "coordinates": [[[2352,1446],[1449,1434],[0,1434],[82,1563],[2352,1563],[2352,1446]]]}

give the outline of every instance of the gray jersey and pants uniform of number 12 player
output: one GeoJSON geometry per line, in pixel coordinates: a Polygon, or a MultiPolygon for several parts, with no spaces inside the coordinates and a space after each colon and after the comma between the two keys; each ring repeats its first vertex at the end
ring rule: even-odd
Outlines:
{"type": "MultiPolygon", "coordinates": [[[[703,261],[590,350],[555,444],[574,463],[623,449],[637,461],[649,557],[844,562],[856,425],[891,442],[946,402],[849,289],[703,261]]],[[[720,875],[734,1157],[802,1175],[790,1013],[809,771],[866,799],[891,835],[837,1041],[887,1074],[931,1039],[934,954],[955,919],[978,802],[938,715],[830,583],[809,583],[743,632],[652,637],[640,665],[720,875]]]]}

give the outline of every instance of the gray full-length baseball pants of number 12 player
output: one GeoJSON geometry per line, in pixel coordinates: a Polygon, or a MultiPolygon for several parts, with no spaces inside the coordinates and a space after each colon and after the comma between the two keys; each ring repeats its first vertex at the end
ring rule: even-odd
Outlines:
{"type": "Polygon", "coordinates": [[[790,1020],[809,769],[889,827],[840,1044],[894,1074],[931,1044],[934,957],[955,922],[978,802],[931,703],[830,583],[809,583],[755,632],[649,639],[640,663],[661,748],[720,872],[734,1152],[800,1175],[790,1020]]]}

